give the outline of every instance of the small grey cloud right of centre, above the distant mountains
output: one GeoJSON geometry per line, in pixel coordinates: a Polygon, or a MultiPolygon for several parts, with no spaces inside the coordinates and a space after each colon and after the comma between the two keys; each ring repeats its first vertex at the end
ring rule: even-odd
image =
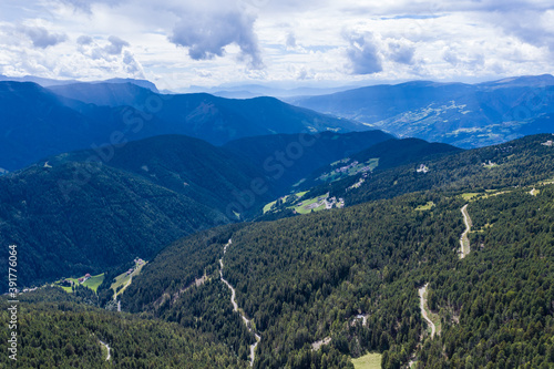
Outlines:
{"type": "Polygon", "coordinates": [[[351,74],[375,74],[382,71],[381,57],[371,32],[343,33],[350,45],[346,50],[347,69],[351,74]]]}

